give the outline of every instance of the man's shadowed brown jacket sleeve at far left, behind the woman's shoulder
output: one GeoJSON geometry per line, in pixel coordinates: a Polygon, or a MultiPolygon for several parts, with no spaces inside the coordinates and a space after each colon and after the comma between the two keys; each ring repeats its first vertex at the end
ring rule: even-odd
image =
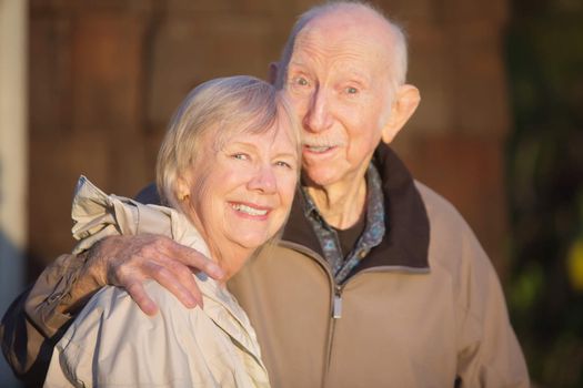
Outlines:
{"type": "Polygon", "coordinates": [[[57,307],[68,304],[82,265],[74,255],[59,256],[2,318],[2,353],[17,377],[31,386],[42,385],[52,348],[72,320],[57,307]]]}

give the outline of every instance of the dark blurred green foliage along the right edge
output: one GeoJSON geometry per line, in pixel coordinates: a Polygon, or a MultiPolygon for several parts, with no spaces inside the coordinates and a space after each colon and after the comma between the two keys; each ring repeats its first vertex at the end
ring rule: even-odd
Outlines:
{"type": "Polygon", "coordinates": [[[583,4],[513,6],[509,307],[533,380],[583,387],[583,4]]]}

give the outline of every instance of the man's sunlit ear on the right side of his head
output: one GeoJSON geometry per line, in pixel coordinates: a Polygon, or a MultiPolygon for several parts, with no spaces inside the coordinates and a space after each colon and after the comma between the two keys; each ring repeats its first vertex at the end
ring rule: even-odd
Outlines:
{"type": "Polygon", "coordinates": [[[391,115],[382,131],[383,142],[390,144],[393,141],[399,131],[413,115],[420,101],[419,90],[413,85],[405,84],[396,90],[393,105],[391,106],[391,115]]]}

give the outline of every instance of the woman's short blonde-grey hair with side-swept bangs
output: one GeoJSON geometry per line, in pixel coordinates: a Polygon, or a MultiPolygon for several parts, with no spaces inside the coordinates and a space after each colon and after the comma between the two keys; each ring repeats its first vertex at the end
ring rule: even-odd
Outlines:
{"type": "Polygon", "coordinates": [[[197,169],[203,144],[218,151],[233,134],[267,134],[282,120],[287,121],[283,126],[296,145],[300,163],[300,127],[285,98],[273,85],[235,75],[194,88],[172,116],[158,153],[157,186],[162,204],[182,212],[177,180],[189,167],[197,169]]]}

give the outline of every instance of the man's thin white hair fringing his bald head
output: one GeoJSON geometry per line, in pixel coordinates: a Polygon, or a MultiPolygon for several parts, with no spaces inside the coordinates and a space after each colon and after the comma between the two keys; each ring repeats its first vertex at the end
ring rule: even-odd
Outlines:
{"type": "Polygon", "coordinates": [[[321,6],[315,6],[300,16],[295,24],[293,25],[290,37],[283,47],[281,59],[279,62],[280,71],[278,72],[278,79],[275,85],[278,89],[283,88],[283,83],[288,76],[288,64],[290,63],[293,45],[295,39],[302,29],[312,20],[335,13],[339,11],[351,13],[354,9],[364,9],[375,17],[380,18],[386,23],[386,27],[392,32],[394,38],[394,44],[389,48],[391,50],[392,63],[386,63],[389,71],[391,71],[391,86],[396,90],[400,85],[405,83],[406,67],[408,67],[408,52],[406,52],[406,38],[403,29],[394,21],[390,20],[380,9],[364,1],[329,1],[321,6]]]}

